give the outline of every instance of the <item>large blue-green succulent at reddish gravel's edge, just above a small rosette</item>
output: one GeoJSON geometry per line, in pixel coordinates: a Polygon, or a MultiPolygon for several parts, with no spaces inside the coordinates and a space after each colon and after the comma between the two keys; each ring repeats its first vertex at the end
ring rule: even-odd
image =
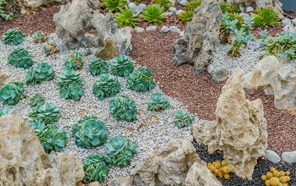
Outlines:
{"type": "Polygon", "coordinates": [[[154,79],[149,68],[139,67],[126,79],[126,87],[133,91],[147,92],[155,87],[154,79]]]}

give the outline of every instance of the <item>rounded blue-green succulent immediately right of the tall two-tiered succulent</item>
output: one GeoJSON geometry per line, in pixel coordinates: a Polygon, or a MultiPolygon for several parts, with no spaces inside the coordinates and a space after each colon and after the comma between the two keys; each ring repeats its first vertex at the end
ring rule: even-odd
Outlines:
{"type": "Polygon", "coordinates": [[[93,93],[100,100],[103,100],[106,97],[113,97],[119,93],[120,88],[121,85],[118,83],[118,79],[115,76],[101,74],[93,85],[93,93]]]}

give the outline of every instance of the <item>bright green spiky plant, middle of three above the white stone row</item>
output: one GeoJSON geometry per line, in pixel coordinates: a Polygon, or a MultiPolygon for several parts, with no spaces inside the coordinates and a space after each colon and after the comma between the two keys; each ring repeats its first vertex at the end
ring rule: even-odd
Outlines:
{"type": "Polygon", "coordinates": [[[164,7],[159,4],[149,4],[140,16],[148,23],[162,23],[163,20],[167,19],[167,14],[163,11],[164,7]]]}

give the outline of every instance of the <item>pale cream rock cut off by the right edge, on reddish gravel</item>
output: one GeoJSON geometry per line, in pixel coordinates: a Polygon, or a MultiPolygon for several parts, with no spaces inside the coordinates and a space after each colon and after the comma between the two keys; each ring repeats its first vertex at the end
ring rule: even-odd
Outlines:
{"type": "Polygon", "coordinates": [[[274,106],[278,109],[296,111],[296,64],[287,68],[274,56],[260,60],[255,69],[243,76],[247,89],[261,88],[274,95],[274,106]]]}

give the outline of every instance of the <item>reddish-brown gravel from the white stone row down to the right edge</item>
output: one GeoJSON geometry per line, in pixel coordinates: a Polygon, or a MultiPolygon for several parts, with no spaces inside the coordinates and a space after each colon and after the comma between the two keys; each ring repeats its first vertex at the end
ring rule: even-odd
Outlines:
{"type": "MultiPolygon", "coordinates": [[[[182,101],[200,119],[215,120],[215,110],[224,83],[215,84],[208,73],[193,76],[194,69],[189,64],[179,67],[173,64],[172,47],[179,37],[176,33],[144,32],[132,36],[131,57],[139,65],[151,69],[156,82],[165,94],[182,101]]],[[[261,90],[246,90],[250,100],[261,98],[267,120],[268,149],[281,154],[296,150],[296,115],[274,108],[273,96],[261,90]]]]}

